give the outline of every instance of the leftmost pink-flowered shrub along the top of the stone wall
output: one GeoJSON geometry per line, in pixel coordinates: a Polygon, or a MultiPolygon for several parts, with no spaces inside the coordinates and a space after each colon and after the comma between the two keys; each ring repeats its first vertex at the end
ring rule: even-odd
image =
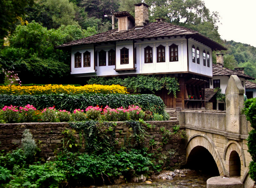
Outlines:
{"type": "Polygon", "coordinates": [[[15,123],[19,119],[19,110],[16,106],[5,106],[2,109],[3,113],[3,119],[6,121],[6,123],[15,123]]]}

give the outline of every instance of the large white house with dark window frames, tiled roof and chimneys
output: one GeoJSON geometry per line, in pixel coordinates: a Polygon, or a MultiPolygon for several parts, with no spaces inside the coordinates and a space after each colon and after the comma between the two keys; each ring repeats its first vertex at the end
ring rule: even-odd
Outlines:
{"type": "Polygon", "coordinates": [[[135,4],[135,19],[128,12],[114,13],[118,29],[57,46],[72,52],[71,75],[167,75],[180,84],[177,98],[156,93],[167,107],[204,107],[204,83],[212,78],[212,51],[226,50],[200,33],[157,19],[148,23],[148,5],[135,4]],[[193,99],[188,96],[194,96],[193,99]]]}

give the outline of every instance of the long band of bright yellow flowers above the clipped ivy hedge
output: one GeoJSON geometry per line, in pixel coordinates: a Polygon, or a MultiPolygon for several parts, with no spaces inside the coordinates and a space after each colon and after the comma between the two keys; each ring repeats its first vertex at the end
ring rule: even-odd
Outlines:
{"type": "Polygon", "coordinates": [[[82,93],[128,93],[126,87],[120,85],[85,85],[85,86],[73,86],[73,85],[43,85],[43,86],[0,86],[0,93],[7,95],[41,95],[41,94],[82,94],[82,93]]]}

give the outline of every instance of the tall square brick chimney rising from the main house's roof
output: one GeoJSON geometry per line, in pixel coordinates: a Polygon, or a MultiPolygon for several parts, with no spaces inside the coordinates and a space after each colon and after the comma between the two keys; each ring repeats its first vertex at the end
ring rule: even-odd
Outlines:
{"type": "Polygon", "coordinates": [[[143,27],[148,24],[148,5],[145,3],[134,4],[135,27],[143,27]]]}

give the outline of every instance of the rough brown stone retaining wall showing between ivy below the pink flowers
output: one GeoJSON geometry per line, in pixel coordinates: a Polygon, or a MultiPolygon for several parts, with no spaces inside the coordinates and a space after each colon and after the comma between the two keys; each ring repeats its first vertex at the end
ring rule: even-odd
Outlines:
{"type": "MultiPolygon", "coordinates": [[[[173,131],[178,121],[147,121],[149,124],[154,125],[155,128],[147,129],[148,137],[145,139],[145,146],[149,148],[149,151],[153,151],[154,147],[162,147],[161,153],[168,156],[169,151],[172,149],[175,151],[175,155],[170,158],[169,166],[180,167],[185,165],[186,151],[184,139],[171,139],[168,144],[163,144],[163,134],[160,128],[164,127],[165,130],[173,131]],[[154,147],[149,146],[151,139],[154,139],[154,147]]],[[[44,159],[48,159],[51,156],[56,156],[57,153],[62,150],[62,140],[64,135],[62,132],[69,129],[68,123],[17,123],[17,124],[0,124],[0,150],[8,152],[20,147],[22,134],[25,129],[29,129],[32,133],[38,147],[41,149],[40,156],[44,159]]],[[[182,128],[181,128],[182,129],[182,128]]],[[[131,130],[125,122],[117,122],[116,125],[116,138],[118,144],[116,148],[119,149],[125,141],[127,135],[131,135],[131,130]]],[[[79,133],[75,135],[79,140],[79,133]]]]}

